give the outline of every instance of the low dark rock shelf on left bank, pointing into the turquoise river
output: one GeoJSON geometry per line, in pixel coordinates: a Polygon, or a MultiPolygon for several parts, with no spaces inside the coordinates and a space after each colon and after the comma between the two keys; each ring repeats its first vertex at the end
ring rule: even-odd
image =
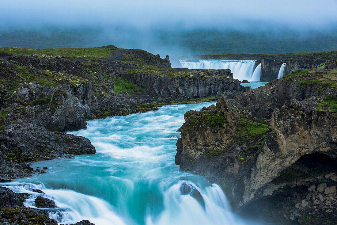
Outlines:
{"type": "Polygon", "coordinates": [[[20,119],[12,123],[11,127],[14,129],[12,137],[0,131],[0,179],[3,181],[30,176],[34,171],[26,161],[96,152],[89,139],[81,136],[47,131],[40,124],[20,119]]]}

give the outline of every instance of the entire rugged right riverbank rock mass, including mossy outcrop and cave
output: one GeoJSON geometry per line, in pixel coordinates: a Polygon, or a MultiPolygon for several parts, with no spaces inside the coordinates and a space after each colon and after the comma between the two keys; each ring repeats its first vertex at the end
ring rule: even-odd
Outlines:
{"type": "Polygon", "coordinates": [[[224,98],[186,112],[176,164],[220,185],[243,216],[332,224],[337,87],[330,73],[336,71],[300,71],[242,93],[237,101],[224,98]]]}

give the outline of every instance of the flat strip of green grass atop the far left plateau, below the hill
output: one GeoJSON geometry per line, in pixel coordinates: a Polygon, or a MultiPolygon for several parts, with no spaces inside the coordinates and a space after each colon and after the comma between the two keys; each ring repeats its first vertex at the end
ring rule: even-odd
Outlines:
{"type": "Polygon", "coordinates": [[[84,58],[84,59],[105,59],[113,54],[113,48],[59,48],[59,49],[32,49],[19,47],[0,47],[0,52],[9,54],[23,55],[59,55],[69,58],[84,58]]]}

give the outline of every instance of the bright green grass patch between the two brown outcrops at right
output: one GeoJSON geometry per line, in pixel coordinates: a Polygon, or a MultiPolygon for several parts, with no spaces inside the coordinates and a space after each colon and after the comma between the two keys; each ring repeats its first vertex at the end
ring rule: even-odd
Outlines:
{"type": "Polygon", "coordinates": [[[248,141],[251,137],[270,131],[270,126],[262,123],[253,122],[249,119],[244,118],[243,116],[240,116],[240,119],[236,125],[236,133],[243,141],[248,141]]]}

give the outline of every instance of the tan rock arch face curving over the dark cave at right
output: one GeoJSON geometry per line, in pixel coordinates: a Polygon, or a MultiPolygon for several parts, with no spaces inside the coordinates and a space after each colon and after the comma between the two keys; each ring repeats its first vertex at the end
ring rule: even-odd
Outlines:
{"type": "Polygon", "coordinates": [[[290,106],[275,109],[270,124],[272,132],[250,171],[243,203],[273,194],[280,187],[270,182],[305,154],[319,152],[337,158],[337,119],[329,112],[304,108],[292,100],[290,106]]]}

